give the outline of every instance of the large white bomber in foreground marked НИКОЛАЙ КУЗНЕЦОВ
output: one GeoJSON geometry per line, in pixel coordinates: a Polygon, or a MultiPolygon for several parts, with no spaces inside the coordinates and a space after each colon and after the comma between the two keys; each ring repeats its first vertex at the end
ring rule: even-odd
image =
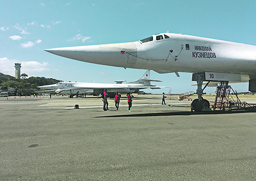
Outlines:
{"type": "Polygon", "coordinates": [[[203,99],[203,81],[248,82],[256,92],[256,46],[184,34],[160,33],[128,43],[47,49],[50,53],[83,62],[158,73],[193,73],[198,99],[192,108],[210,107],[203,99]]]}

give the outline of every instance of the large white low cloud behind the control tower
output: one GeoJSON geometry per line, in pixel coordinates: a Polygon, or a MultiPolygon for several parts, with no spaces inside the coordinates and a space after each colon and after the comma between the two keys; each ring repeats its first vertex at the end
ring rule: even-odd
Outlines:
{"type": "Polygon", "coordinates": [[[14,63],[21,63],[21,73],[26,73],[29,76],[31,74],[35,74],[37,72],[44,72],[44,71],[49,71],[50,69],[48,68],[49,63],[48,62],[36,62],[36,61],[27,61],[27,62],[22,62],[18,61],[15,59],[8,59],[7,57],[0,58],[0,72],[3,74],[15,76],[15,68],[14,68],[14,63]]]}

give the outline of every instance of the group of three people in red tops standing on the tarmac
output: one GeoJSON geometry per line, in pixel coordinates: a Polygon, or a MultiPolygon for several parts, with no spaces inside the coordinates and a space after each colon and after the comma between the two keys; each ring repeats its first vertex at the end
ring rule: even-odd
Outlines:
{"type": "MultiPolygon", "coordinates": [[[[107,111],[109,110],[108,108],[108,90],[105,89],[105,91],[102,94],[102,101],[103,101],[103,111],[107,111]]],[[[127,93],[127,101],[128,101],[128,110],[131,111],[131,107],[132,107],[132,98],[133,96],[130,95],[130,93],[127,93]]],[[[120,98],[121,98],[121,94],[118,94],[118,92],[115,93],[115,106],[116,106],[116,110],[118,110],[119,108],[119,103],[120,103],[120,98]]]]}

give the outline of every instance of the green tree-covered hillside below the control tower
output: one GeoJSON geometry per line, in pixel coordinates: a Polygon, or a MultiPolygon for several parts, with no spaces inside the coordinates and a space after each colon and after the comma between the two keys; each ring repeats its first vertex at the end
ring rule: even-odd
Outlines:
{"type": "Polygon", "coordinates": [[[38,92],[37,86],[56,84],[57,82],[62,82],[61,80],[56,80],[54,78],[45,77],[27,77],[27,74],[23,73],[20,75],[21,79],[16,79],[15,77],[5,75],[0,73],[0,86],[11,87],[16,90],[21,95],[33,95],[38,92]]]}

